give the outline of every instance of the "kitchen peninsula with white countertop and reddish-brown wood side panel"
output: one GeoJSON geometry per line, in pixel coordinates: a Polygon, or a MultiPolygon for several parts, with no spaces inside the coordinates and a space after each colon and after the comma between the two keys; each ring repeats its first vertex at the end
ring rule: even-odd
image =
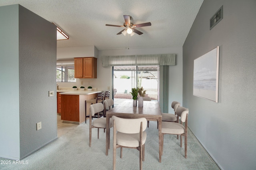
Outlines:
{"type": "MultiPolygon", "coordinates": [[[[81,124],[85,121],[85,100],[96,98],[98,90],[73,90],[61,92],[61,120],[63,123],[81,124]]],[[[89,114],[89,107],[86,110],[89,114]]]]}

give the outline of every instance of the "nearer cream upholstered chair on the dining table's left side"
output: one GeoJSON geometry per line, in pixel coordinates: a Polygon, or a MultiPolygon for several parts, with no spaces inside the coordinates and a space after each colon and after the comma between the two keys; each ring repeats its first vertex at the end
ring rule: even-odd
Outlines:
{"type": "MultiPolygon", "coordinates": [[[[104,110],[104,106],[102,103],[95,103],[90,105],[90,113],[89,113],[89,146],[91,147],[92,145],[92,128],[98,128],[98,138],[99,138],[99,129],[104,128],[106,129],[106,118],[101,117],[97,118],[92,121],[92,116],[95,114],[102,112],[104,110]]],[[[112,121],[110,120],[109,127],[112,127],[112,121]]]]}

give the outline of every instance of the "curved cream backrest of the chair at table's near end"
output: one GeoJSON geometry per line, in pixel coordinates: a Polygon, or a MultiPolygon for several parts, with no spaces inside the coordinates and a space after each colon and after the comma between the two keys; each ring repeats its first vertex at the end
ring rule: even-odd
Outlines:
{"type": "Polygon", "coordinates": [[[115,120],[116,131],[126,134],[140,133],[140,124],[142,122],[142,132],[147,128],[146,118],[124,119],[112,116],[112,121],[115,120]]]}

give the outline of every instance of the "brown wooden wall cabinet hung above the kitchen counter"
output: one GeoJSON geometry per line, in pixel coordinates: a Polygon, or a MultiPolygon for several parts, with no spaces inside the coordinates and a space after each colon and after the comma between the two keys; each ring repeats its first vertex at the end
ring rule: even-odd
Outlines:
{"type": "Polygon", "coordinates": [[[75,78],[97,78],[97,58],[74,58],[75,78]]]}

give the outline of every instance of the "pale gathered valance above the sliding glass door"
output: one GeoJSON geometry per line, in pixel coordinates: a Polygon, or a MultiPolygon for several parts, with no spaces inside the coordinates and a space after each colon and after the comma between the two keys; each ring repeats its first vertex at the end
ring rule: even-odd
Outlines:
{"type": "Polygon", "coordinates": [[[102,56],[102,66],[174,66],[175,54],[102,56]]]}

